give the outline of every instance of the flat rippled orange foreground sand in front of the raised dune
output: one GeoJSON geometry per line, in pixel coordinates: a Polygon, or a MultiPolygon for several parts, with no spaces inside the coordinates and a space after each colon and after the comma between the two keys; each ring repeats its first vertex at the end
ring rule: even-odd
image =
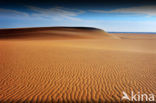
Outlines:
{"type": "Polygon", "coordinates": [[[0,100],[119,102],[122,91],[155,93],[155,53],[76,42],[1,41],[0,100]]]}

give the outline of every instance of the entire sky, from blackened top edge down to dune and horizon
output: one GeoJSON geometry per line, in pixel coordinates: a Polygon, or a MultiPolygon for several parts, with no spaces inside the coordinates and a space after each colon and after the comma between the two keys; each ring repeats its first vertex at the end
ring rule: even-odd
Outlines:
{"type": "Polygon", "coordinates": [[[156,32],[156,3],[152,0],[2,0],[0,3],[0,28],[47,26],[156,32]]]}

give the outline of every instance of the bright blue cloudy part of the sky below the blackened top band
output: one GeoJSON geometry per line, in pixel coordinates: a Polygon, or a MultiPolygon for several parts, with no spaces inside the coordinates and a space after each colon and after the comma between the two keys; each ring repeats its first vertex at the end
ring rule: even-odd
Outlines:
{"type": "Polygon", "coordinates": [[[31,6],[0,8],[0,28],[89,26],[107,32],[156,32],[155,5],[111,8],[31,6]]]}

